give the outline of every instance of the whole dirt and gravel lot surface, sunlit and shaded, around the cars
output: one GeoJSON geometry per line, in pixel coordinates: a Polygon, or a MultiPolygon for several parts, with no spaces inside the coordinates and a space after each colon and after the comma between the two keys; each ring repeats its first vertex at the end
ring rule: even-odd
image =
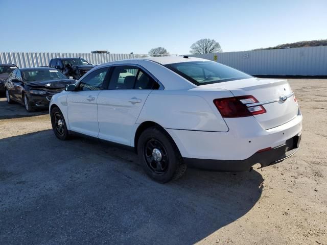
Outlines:
{"type": "Polygon", "coordinates": [[[59,141],[46,111],[0,99],[0,244],[327,244],[327,80],[289,81],[304,117],[295,156],[165,185],[132,152],[59,141]]]}

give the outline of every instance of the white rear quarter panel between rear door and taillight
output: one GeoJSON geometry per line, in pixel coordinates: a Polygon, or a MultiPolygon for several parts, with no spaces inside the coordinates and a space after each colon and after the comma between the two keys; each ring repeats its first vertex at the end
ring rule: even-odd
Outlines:
{"type": "Polygon", "coordinates": [[[155,90],[148,96],[136,124],[154,121],[168,129],[227,132],[228,127],[213,103],[220,96],[231,94],[229,91],[155,90]]]}

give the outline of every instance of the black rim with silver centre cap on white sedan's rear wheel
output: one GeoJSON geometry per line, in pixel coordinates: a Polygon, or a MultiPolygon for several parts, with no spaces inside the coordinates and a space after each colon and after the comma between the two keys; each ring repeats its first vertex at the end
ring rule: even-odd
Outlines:
{"type": "Polygon", "coordinates": [[[165,146],[156,139],[150,139],[144,150],[147,166],[156,174],[164,174],[168,169],[168,155],[165,146]]]}

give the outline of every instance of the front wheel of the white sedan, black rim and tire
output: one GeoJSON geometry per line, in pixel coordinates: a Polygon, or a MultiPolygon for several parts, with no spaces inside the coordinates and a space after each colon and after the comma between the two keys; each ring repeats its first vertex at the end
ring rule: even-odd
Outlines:
{"type": "Polygon", "coordinates": [[[66,121],[58,107],[54,107],[51,110],[50,117],[52,129],[57,138],[60,140],[68,139],[69,133],[66,126],[66,121]]]}

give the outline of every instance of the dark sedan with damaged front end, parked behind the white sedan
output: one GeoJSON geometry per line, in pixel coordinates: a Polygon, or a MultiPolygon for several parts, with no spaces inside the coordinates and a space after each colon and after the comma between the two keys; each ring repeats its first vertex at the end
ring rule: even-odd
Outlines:
{"type": "Polygon", "coordinates": [[[31,112],[49,107],[52,96],[64,90],[66,84],[76,83],[54,68],[21,68],[9,75],[5,84],[7,102],[25,105],[31,112]]]}

